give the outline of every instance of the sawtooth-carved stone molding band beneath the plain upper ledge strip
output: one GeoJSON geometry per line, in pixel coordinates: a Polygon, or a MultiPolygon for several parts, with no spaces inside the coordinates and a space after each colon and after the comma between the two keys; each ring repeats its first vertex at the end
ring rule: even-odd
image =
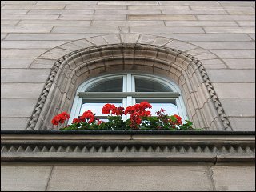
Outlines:
{"type": "Polygon", "coordinates": [[[4,140],[1,160],[93,162],[254,162],[244,140],[4,140]]]}

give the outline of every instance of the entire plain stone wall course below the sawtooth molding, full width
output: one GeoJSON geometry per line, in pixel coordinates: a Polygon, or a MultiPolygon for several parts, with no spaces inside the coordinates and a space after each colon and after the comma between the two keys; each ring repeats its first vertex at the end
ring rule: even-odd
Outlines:
{"type": "Polygon", "coordinates": [[[3,164],[1,190],[254,191],[254,173],[250,165],[3,164]]]}

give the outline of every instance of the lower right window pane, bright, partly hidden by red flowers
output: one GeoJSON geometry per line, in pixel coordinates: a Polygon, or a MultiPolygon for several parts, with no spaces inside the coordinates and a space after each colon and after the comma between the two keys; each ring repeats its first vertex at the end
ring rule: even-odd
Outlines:
{"type": "MultiPolygon", "coordinates": [[[[145,100],[136,100],[137,103],[139,102],[144,102],[145,100]]],[[[175,100],[163,100],[163,101],[154,101],[154,100],[151,100],[151,101],[147,101],[151,104],[152,106],[152,109],[147,109],[147,110],[150,110],[151,111],[151,115],[152,116],[156,116],[157,114],[155,114],[157,111],[164,109],[166,110],[165,111],[165,114],[168,114],[168,115],[173,115],[173,114],[178,114],[178,107],[176,106],[176,102],[175,100]]]]}

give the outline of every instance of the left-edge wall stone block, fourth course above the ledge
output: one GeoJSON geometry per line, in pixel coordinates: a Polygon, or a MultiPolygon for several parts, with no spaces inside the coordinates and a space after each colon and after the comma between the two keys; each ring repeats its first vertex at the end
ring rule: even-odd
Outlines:
{"type": "Polygon", "coordinates": [[[1,82],[46,82],[48,69],[2,69],[1,82]]]}

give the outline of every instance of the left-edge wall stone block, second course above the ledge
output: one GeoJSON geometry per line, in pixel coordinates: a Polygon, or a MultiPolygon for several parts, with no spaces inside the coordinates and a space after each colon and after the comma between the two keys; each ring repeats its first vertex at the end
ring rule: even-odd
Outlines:
{"type": "Polygon", "coordinates": [[[11,117],[30,117],[38,98],[2,98],[1,116],[11,117]]]}

